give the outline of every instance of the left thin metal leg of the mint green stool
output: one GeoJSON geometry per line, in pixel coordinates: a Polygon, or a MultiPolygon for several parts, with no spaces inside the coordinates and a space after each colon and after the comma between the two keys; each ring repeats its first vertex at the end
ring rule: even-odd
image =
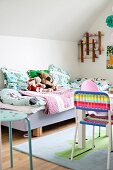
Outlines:
{"type": "Polygon", "coordinates": [[[10,166],[13,167],[13,150],[12,150],[12,122],[9,122],[9,143],[10,143],[10,166]]]}

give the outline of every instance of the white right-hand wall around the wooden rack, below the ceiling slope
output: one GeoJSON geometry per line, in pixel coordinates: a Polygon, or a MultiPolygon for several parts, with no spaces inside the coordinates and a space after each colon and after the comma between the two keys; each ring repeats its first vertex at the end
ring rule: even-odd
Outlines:
{"type": "Polygon", "coordinates": [[[94,63],[91,59],[86,59],[84,63],[79,62],[80,75],[83,77],[102,77],[113,82],[113,70],[106,69],[106,48],[107,45],[111,45],[110,34],[113,32],[113,29],[107,27],[105,23],[106,17],[113,14],[111,11],[112,6],[113,2],[106,7],[96,22],[94,22],[93,26],[89,29],[90,33],[97,33],[99,30],[104,33],[104,36],[102,37],[102,47],[104,48],[104,52],[102,52],[102,55],[99,56],[94,63]]]}

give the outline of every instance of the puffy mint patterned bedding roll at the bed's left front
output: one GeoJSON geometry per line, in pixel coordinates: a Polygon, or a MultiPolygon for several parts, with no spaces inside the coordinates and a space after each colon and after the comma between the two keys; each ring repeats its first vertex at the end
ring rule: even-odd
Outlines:
{"type": "Polygon", "coordinates": [[[46,104],[41,97],[22,96],[17,90],[8,88],[0,91],[0,101],[16,106],[44,106],[46,104]]]}

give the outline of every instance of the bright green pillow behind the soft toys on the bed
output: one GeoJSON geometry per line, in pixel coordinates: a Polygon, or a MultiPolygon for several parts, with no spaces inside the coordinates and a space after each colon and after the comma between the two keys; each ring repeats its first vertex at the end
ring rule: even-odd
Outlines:
{"type": "Polygon", "coordinates": [[[30,78],[34,78],[37,77],[42,71],[49,74],[49,70],[28,70],[27,74],[30,78]]]}

